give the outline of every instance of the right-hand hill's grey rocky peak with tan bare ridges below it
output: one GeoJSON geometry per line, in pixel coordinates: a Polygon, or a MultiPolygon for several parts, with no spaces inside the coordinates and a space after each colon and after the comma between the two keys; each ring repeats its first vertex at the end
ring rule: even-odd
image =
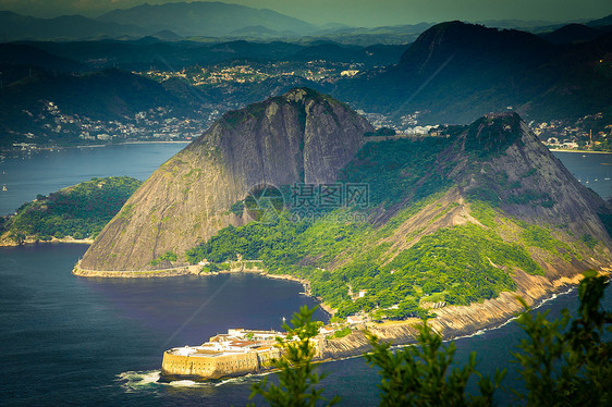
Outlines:
{"type": "MultiPolygon", "coordinates": [[[[525,246],[549,279],[610,266],[612,239],[602,222],[610,208],[567,171],[516,113],[488,114],[466,126],[429,172],[446,173],[452,186],[384,239],[392,244],[390,256],[440,229],[467,223],[488,229],[473,215],[469,203],[485,201],[503,218],[547,229],[573,247],[571,259],[562,252],[544,254],[522,240],[524,231],[516,225],[499,229],[505,242],[525,246]],[[583,244],[590,238],[601,243],[595,250],[583,244]]],[[[388,211],[379,219],[385,222],[393,215],[388,211]]],[[[498,218],[495,222],[503,225],[505,221],[498,218]]]]}

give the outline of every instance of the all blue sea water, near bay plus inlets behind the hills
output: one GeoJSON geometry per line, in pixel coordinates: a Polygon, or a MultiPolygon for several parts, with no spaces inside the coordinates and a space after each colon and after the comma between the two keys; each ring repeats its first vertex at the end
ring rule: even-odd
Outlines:
{"type": "MultiPolygon", "coordinates": [[[[90,149],[91,155],[83,156],[73,151],[63,159],[48,156],[52,153],[32,156],[30,161],[21,161],[23,165],[15,161],[5,174],[7,184],[17,185],[8,175],[20,174],[20,183],[27,185],[20,194],[28,200],[91,176],[145,178],[182,146],[117,147],[90,149]],[[122,160],[113,161],[115,153],[122,160]],[[44,171],[50,162],[52,176],[30,170],[44,171]],[[77,172],[76,164],[90,171],[77,172]]],[[[610,157],[598,155],[590,163],[575,153],[560,158],[576,161],[566,164],[570,170],[595,180],[605,168],[601,162],[610,157]]],[[[20,188],[8,193],[15,189],[20,188]]],[[[228,328],[278,329],[283,317],[315,304],[299,294],[303,288],[297,283],[250,274],[145,280],[73,276],[72,266],[85,250],[86,246],[52,244],[0,248],[0,405],[245,405],[250,384],[260,375],[208,384],[161,384],[157,379],[162,351],[199,344],[228,328]]],[[[573,291],[547,301],[540,310],[558,316],[563,307],[575,309],[576,297],[573,291]]],[[[610,289],[604,303],[611,308],[610,289]]],[[[327,318],[322,312],[317,316],[327,318]]],[[[495,368],[510,367],[504,382],[519,387],[518,374],[507,361],[521,337],[522,331],[510,322],[457,340],[456,359],[465,362],[469,351],[476,350],[480,371],[492,374],[495,368]]],[[[342,405],[377,404],[380,379],[363,358],[323,363],[320,369],[330,373],[325,382],[328,394],[341,395],[342,405]]],[[[513,398],[500,392],[498,400],[507,405],[513,398]]]]}

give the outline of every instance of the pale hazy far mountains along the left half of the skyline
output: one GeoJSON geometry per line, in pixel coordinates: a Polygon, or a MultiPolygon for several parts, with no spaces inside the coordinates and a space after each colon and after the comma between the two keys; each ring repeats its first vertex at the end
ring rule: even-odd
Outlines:
{"type": "Polygon", "coordinates": [[[182,37],[301,36],[319,27],[271,10],[221,2],[142,4],[114,10],[98,18],[64,15],[36,18],[0,12],[4,41],[138,38],[163,33],[164,39],[182,37]]]}

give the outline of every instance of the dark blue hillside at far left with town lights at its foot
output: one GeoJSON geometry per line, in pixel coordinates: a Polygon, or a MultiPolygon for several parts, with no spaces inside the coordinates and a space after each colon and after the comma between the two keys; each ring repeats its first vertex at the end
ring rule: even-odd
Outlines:
{"type": "MultiPolygon", "coordinates": [[[[174,92],[128,72],[53,73],[27,65],[2,65],[0,146],[13,143],[74,144],[83,128],[75,123],[124,121],[137,112],[163,108],[191,116],[199,92],[174,92]]],[[[89,123],[91,130],[98,124],[89,123]]],[[[101,131],[97,133],[103,133],[101,131]]]]}

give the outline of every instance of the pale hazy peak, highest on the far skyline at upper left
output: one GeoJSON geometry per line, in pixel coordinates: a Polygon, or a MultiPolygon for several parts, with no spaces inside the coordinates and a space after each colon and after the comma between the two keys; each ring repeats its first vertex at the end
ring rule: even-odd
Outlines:
{"type": "Polygon", "coordinates": [[[306,34],[315,26],[271,10],[221,2],[142,4],[127,10],[114,10],[98,21],[117,24],[136,24],[159,32],[170,29],[183,37],[229,36],[236,29],[261,26],[276,32],[306,34]]]}

